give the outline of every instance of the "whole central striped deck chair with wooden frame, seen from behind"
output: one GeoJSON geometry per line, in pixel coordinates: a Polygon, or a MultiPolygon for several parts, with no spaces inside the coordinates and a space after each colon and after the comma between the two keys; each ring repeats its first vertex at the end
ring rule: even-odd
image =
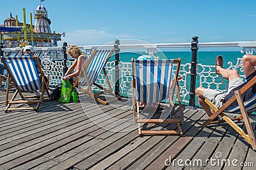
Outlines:
{"type": "Polygon", "coordinates": [[[141,134],[179,134],[182,136],[180,124],[183,124],[184,118],[180,102],[180,91],[178,78],[181,59],[172,60],[134,60],[132,59],[132,105],[134,123],[138,123],[139,136],[141,134]],[[173,69],[173,63],[177,63],[176,69],[173,69]],[[176,70],[175,76],[173,71],[176,70]],[[173,96],[177,93],[179,101],[179,115],[174,108],[173,96]],[[158,104],[160,106],[164,99],[164,110],[161,111],[161,116],[155,118],[156,108],[152,105],[158,104]],[[144,108],[140,104],[145,105],[144,108]],[[142,111],[140,111],[140,109],[142,111]],[[145,115],[145,110],[151,109],[153,112],[145,115]],[[137,120],[136,120],[137,113],[137,120]],[[141,118],[141,113],[143,118],[141,118]],[[167,114],[166,114],[167,113],[167,114]],[[172,116],[173,113],[173,116],[172,116]],[[145,116],[144,116],[145,115],[145,116]],[[165,115],[165,116],[163,116],[165,115]],[[174,117],[174,118],[172,118],[174,117]],[[140,124],[177,124],[177,131],[175,130],[143,130],[140,124]]]}

